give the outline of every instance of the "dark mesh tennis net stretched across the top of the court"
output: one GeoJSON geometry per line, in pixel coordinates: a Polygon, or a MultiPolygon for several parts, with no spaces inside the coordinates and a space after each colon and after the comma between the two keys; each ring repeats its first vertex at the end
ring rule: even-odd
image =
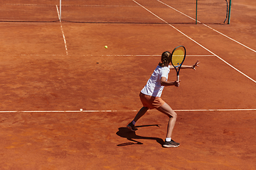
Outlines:
{"type": "Polygon", "coordinates": [[[226,0],[1,0],[0,21],[223,23],[226,0]],[[154,15],[155,14],[155,15],[154,15]],[[162,18],[164,21],[162,21],[162,18]]]}

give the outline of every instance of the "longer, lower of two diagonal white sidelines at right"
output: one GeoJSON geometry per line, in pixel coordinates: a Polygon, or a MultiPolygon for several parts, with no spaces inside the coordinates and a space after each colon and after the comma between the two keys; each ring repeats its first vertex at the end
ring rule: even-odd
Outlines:
{"type": "MultiPolygon", "coordinates": [[[[134,1],[134,0],[132,0],[134,1]]],[[[136,4],[138,4],[139,6],[142,6],[141,4],[139,4],[137,1],[134,1],[136,4]]],[[[146,11],[148,11],[149,13],[151,13],[152,15],[156,16],[155,13],[149,11],[149,9],[145,8],[144,6],[142,6],[142,8],[144,8],[146,11]]],[[[178,30],[178,28],[172,26],[170,23],[168,23],[167,21],[165,21],[164,19],[160,18],[159,16],[156,16],[156,18],[159,18],[161,21],[164,21],[164,23],[168,24],[169,26],[171,26],[172,28],[174,28],[175,30],[177,30],[179,33],[181,33],[182,35],[186,36],[186,38],[192,40],[193,42],[195,42],[197,45],[203,47],[203,49],[207,50],[208,52],[210,52],[211,54],[215,55],[215,53],[211,52],[210,50],[208,50],[206,47],[204,47],[203,45],[201,45],[199,42],[197,42],[196,40],[193,40],[192,38],[190,38],[188,35],[186,35],[185,33],[183,33],[181,30],[178,30]]],[[[228,64],[230,67],[232,67],[233,69],[235,69],[236,71],[238,71],[240,74],[244,75],[245,77],[247,77],[248,79],[252,80],[253,82],[256,83],[256,81],[250,77],[248,77],[246,74],[244,74],[243,72],[241,72],[239,69],[233,67],[233,65],[229,64],[228,62],[226,62],[225,60],[223,60],[221,57],[219,57],[218,55],[215,55],[215,57],[218,57],[218,59],[222,60],[223,62],[225,62],[225,64],[228,64]]]]}

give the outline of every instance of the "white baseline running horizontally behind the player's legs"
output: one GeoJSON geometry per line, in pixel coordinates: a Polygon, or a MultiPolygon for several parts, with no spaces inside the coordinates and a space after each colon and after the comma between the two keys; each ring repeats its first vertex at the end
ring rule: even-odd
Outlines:
{"type": "MultiPolygon", "coordinates": [[[[150,110],[156,111],[156,110],[150,110]]],[[[174,110],[176,112],[200,112],[200,111],[256,111],[256,108],[221,108],[221,109],[181,109],[174,110]]],[[[84,111],[82,108],[80,111],[0,111],[0,113],[102,113],[102,112],[138,112],[134,111],[84,111]]]]}

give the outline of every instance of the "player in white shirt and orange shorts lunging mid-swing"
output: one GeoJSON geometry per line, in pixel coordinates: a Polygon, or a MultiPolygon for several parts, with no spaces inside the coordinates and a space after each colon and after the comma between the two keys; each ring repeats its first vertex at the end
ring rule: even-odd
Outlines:
{"type": "MultiPolygon", "coordinates": [[[[166,140],[163,147],[178,147],[179,143],[171,140],[171,134],[174,130],[174,125],[176,123],[177,114],[171,107],[161,99],[161,93],[164,89],[164,86],[179,86],[178,81],[167,81],[170,69],[174,69],[173,66],[169,65],[171,62],[171,53],[163,52],[161,55],[161,62],[151,74],[150,79],[147,81],[146,86],[142,89],[139,94],[140,100],[142,101],[143,107],[139,110],[134,120],[132,120],[127,128],[129,130],[135,131],[135,123],[139,118],[142,118],[142,115],[146,113],[149,109],[156,108],[161,113],[164,113],[169,116],[169,123],[167,128],[166,140]]],[[[182,65],[181,69],[195,69],[198,67],[199,62],[193,66],[182,65]]],[[[196,69],[195,69],[196,70],[196,69]]]]}

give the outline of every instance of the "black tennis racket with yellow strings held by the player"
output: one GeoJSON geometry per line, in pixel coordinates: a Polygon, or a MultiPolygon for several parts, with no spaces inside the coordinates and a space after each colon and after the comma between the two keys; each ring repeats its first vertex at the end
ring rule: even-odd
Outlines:
{"type": "Polygon", "coordinates": [[[181,69],[181,65],[185,60],[185,57],[186,49],[182,45],[174,48],[174,50],[171,52],[171,64],[174,66],[177,72],[177,82],[179,82],[179,72],[181,69]]]}

